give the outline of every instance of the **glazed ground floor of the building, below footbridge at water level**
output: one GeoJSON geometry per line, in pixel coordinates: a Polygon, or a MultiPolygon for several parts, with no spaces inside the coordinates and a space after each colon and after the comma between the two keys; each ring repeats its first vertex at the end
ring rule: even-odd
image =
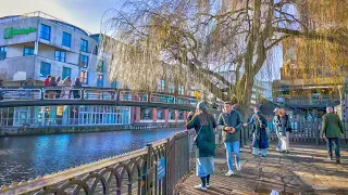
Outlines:
{"type": "Polygon", "coordinates": [[[184,122],[186,112],[104,105],[21,106],[0,108],[1,127],[63,127],[184,122]]]}

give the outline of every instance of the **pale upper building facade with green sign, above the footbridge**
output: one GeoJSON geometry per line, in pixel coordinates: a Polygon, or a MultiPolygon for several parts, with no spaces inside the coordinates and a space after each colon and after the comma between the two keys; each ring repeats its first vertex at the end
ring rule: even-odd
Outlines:
{"type": "Polygon", "coordinates": [[[28,78],[40,86],[51,75],[70,76],[73,82],[78,77],[85,87],[110,87],[97,53],[89,32],[42,12],[0,18],[0,68],[8,86],[28,78]]]}

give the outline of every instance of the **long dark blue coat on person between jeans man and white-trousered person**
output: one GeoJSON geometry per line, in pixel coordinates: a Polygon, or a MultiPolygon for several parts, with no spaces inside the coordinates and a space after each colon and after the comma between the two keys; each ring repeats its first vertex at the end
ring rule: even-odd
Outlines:
{"type": "Polygon", "coordinates": [[[261,116],[260,118],[254,117],[253,130],[254,140],[252,143],[252,147],[256,148],[269,148],[269,135],[268,131],[268,120],[261,116]]]}

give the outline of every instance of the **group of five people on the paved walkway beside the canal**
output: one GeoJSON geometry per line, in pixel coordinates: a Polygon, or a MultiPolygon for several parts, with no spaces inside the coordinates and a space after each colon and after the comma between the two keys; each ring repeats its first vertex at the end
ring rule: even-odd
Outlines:
{"type": "MultiPolygon", "coordinates": [[[[215,128],[222,131],[223,143],[226,150],[226,159],[228,171],[225,174],[231,177],[235,174],[234,161],[237,171],[241,171],[240,165],[240,132],[243,128],[252,126],[252,155],[265,157],[270,147],[270,130],[265,116],[259,107],[253,109],[254,114],[250,120],[243,123],[240,114],[235,109],[233,103],[224,104],[224,113],[219,117],[217,122],[209,114],[207,105],[203,102],[197,104],[196,113],[190,112],[187,117],[187,129],[195,128],[195,145],[197,147],[196,174],[201,179],[201,184],[195,186],[197,190],[207,191],[210,187],[210,176],[214,172],[215,156],[215,128]],[[234,158],[233,155],[234,154],[234,158]],[[235,160],[234,160],[235,159],[235,160]]],[[[338,139],[344,133],[341,120],[334,113],[333,107],[327,107],[323,116],[321,138],[326,140],[328,159],[333,160],[333,144],[335,145],[336,162],[340,164],[338,139]]],[[[289,136],[293,132],[290,118],[284,108],[274,109],[272,121],[278,139],[276,151],[289,154],[289,136]]]]}

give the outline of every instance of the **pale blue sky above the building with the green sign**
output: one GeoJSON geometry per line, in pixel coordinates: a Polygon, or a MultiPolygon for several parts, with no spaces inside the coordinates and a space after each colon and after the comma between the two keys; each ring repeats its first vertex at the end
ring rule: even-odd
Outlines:
{"type": "Polygon", "coordinates": [[[124,0],[0,0],[0,17],[41,11],[92,34],[100,32],[102,14],[124,0]]]}

